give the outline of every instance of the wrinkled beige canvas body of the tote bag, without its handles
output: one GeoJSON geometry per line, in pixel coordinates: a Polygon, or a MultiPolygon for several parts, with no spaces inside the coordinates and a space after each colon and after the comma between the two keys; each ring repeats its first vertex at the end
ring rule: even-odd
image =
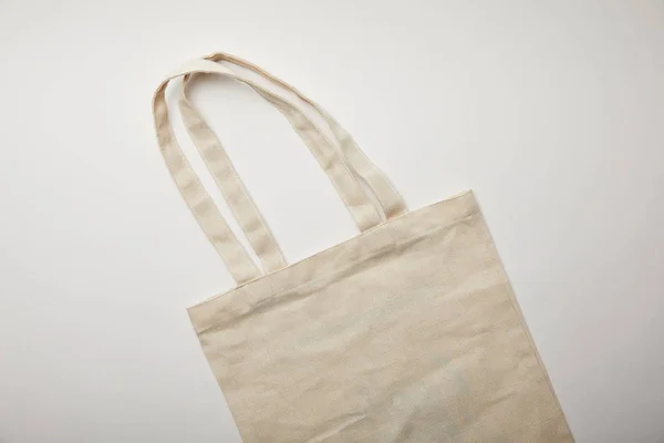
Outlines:
{"type": "Polygon", "coordinates": [[[571,442],[473,194],[189,309],[245,442],[571,442]]]}

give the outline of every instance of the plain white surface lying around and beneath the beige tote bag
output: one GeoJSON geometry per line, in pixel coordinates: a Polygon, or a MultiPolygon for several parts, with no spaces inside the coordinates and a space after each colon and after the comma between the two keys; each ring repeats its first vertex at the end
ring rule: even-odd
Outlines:
{"type": "MultiPolygon", "coordinates": [[[[4,0],[0,37],[1,442],[239,441],[185,311],[231,280],[151,115],[215,50],[325,105],[412,208],[473,187],[577,440],[664,441],[661,1],[4,0]]],[[[281,115],[195,90],[289,259],[355,235],[281,115]]]]}

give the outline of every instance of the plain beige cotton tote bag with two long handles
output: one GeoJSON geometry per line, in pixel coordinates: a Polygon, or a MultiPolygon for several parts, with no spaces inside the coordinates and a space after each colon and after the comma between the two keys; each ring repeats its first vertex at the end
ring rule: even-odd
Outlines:
{"type": "Polygon", "coordinates": [[[228,54],[170,75],[155,93],[154,115],[170,174],[238,284],[189,308],[189,317],[246,443],[573,441],[473,193],[407,210],[319,105],[228,54]],[[301,103],[264,89],[247,70],[301,103]],[[200,73],[248,84],[291,122],[360,235],[287,264],[219,140],[187,100],[187,84],[200,73]],[[187,131],[260,266],[174,137],[165,90],[176,78],[187,131]],[[334,137],[317,128],[302,103],[334,137]]]}

